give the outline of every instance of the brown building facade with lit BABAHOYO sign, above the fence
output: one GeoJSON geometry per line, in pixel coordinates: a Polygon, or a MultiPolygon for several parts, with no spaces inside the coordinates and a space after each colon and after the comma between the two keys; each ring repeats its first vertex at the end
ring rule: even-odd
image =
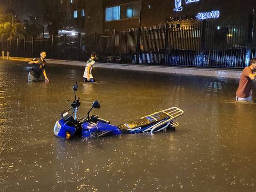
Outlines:
{"type": "Polygon", "coordinates": [[[166,23],[191,25],[202,20],[247,25],[255,1],[223,0],[60,0],[71,7],[72,24],[85,34],[111,34],[166,23]]]}

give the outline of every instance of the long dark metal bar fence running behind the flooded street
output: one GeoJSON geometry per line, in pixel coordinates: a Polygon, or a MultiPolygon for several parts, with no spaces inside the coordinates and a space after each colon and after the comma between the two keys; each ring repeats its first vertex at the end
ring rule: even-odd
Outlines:
{"type": "Polygon", "coordinates": [[[165,66],[243,68],[256,57],[253,18],[244,25],[198,22],[194,25],[164,25],[114,31],[111,36],[61,36],[49,39],[16,39],[2,42],[11,56],[81,60],[98,53],[101,62],[165,66]]]}

